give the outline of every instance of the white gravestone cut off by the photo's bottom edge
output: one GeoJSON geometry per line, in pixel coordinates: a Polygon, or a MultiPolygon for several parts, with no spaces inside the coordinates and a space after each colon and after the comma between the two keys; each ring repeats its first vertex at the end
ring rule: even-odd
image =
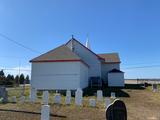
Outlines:
{"type": "Polygon", "coordinates": [[[50,106],[42,105],[41,120],[50,120],[50,106]]]}

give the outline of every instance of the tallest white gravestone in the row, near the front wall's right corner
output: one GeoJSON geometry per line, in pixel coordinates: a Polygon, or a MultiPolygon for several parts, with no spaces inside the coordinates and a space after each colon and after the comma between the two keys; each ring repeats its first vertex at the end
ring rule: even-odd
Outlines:
{"type": "Polygon", "coordinates": [[[83,100],[83,91],[81,89],[77,89],[75,96],[75,104],[81,106],[82,100],[83,100]]]}

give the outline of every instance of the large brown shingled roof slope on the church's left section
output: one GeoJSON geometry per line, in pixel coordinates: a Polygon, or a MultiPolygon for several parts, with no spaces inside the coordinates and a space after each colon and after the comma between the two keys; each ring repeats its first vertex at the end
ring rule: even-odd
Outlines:
{"type": "Polygon", "coordinates": [[[67,46],[62,45],[47,53],[44,53],[30,62],[54,62],[54,61],[81,60],[78,55],[72,52],[67,46]]]}

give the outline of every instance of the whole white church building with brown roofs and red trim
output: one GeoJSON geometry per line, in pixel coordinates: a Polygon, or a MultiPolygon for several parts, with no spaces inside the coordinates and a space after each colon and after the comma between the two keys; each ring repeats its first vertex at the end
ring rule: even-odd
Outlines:
{"type": "Polygon", "coordinates": [[[96,54],[75,38],[32,60],[31,95],[36,90],[75,90],[100,78],[108,86],[123,87],[118,53],[96,54]]]}

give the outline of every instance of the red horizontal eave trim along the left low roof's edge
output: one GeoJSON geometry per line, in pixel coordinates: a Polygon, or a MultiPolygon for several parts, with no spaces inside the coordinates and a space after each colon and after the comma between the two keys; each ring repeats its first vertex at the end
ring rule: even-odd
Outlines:
{"type": "Polygon", "coordinates": [[[37,62],[81,62],[87,67],[89,67],[89,65],[85,63],[83,60],[36,60],[36,61],[31,60],[30,62],[33,62],[33,63],[37,63],[37,62]]]}

